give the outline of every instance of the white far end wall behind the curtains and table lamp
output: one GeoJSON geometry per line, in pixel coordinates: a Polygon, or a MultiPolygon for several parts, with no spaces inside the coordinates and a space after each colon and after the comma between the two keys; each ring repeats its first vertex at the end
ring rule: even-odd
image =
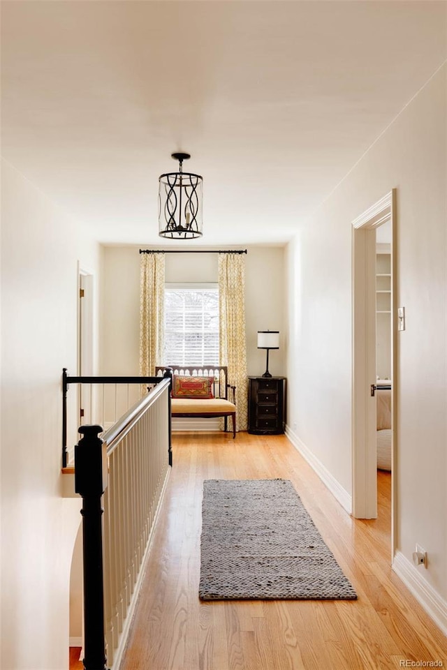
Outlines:
{"type": "MultiPolygon", "coordinates": [[[[101,372],[138,375],[140,329],[139,247],[103,248],[101,372]]],[[[166,254],[166,281],[217,281],[217,254],[166,254]]],[[[250,375],[265,371],[265,351],[257,348],[258,330],[279,330],[281,348],[270,352],[270,372],[284,375],[286,304],[284,247],[249,246],[245,295],[247,367],[250,375]]]]}

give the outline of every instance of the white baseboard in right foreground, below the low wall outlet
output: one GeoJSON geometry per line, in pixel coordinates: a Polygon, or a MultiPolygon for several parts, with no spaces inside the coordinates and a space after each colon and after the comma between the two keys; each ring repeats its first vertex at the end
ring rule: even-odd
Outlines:
{"type": "Polygon", "coordinates": [[[428,616],[434,620],[434,623],[439,626],[444,635],[447,635],[447,602],[427,582],[421,572],[423,569],[423,567],[413,565],[402,551],[396,551],[393,560],[394,572],[423,606],[428,616]]]}

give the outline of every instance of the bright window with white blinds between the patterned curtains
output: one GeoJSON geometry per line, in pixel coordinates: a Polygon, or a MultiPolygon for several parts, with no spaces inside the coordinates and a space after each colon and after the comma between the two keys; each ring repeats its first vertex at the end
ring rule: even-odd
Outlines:
{"type": "Polygon", "coordinates": [[[217,284],[165,285],[164,364],[219,365],[217,284]]]}

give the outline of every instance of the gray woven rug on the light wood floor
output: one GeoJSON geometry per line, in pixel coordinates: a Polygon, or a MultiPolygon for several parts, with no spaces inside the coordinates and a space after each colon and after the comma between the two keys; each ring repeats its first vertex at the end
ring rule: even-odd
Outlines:
{"type": "Polygon", "coordinates": [[[202,514],[202,600],[356,599],[288,479],[207,479],[202,514]]]}

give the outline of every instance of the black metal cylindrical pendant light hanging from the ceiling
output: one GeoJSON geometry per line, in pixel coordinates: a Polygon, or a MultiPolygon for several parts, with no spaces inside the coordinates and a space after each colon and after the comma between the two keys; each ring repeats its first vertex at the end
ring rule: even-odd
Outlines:
{"type": "Polygon", "coordinates": [[[159,177],[159,236],[192,239],[203,234],[203,177],[183,172],[190,154],[171,154],[179,161],[178,172],[159,177]]]}

